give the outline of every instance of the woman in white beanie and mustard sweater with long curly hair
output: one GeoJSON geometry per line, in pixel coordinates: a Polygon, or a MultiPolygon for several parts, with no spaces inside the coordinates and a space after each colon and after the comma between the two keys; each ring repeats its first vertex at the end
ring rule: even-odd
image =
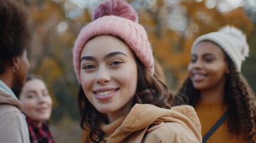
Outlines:
{"type": "Polygon", "coordinates": [[[193,43],[180,93],[198,113],[203,142],[255,142],[255,96],[240,73],[248,53],[245,35],[230,26],[193,43]]]}

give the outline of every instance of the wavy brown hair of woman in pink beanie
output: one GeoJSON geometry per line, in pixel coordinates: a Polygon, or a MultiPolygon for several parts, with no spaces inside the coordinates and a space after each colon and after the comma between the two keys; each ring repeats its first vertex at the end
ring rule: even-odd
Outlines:
{"type": "MultiPolygon", "coordinates": [[[[173,95],[168,91],[167,86],[158,74],[153,76],[144,67],[138,58],[138,83],[134,95],[133,105],[153,104],[161,108],[171,108],[169,104],[173,95]]],[[[106,114],[102,114],[88,101],[80,86],[78,93],[78,110],[81,116],[80,126],[82,129],[90,131],[90,139],[93,142],[100,142],[104,133],[99,129],[101,123],[107,123],[106,114]]]]}

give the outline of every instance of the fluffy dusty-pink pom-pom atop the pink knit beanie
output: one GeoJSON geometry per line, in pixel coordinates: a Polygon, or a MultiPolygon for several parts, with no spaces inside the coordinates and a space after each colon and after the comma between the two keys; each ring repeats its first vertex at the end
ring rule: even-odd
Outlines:
{"type": "Polygon", "coordinates": [[[116,15],[119,17],[127,18],[131,21],[138,23],[138,14],[136,11],[124,0],[112,0],[102,2],[94,11],[92,20],[106,16],[116,15]]]}

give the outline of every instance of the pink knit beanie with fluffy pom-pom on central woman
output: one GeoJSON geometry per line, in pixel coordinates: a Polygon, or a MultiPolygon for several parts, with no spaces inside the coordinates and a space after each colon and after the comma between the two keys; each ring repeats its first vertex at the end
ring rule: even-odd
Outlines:
{"type": "MultiPolygon", "coordinates": [[[[154,72],[152,47],[138,16],[124,0],[106,0],[95,9],[91,23],[82,28],[73,48],[73,64],[80,83],[80,55],[85,43],[98,35],[123,39],[151,74],[154,72]]],[[[100,51],[99,51],[100,52],[100,51]]]]}

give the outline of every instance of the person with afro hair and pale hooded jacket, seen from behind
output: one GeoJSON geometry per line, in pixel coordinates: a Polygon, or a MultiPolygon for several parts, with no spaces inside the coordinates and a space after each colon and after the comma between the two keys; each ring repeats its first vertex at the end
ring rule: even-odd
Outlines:
{"type": "Polygon", "coordinates": [[[26,47],[30,34],[27,20],[23,4],[14,0],[0,0],[1,142],[29,142],[26,120],[21,113],[23,104],[11,91],[24,85],[29,71],[26,47]]]}

